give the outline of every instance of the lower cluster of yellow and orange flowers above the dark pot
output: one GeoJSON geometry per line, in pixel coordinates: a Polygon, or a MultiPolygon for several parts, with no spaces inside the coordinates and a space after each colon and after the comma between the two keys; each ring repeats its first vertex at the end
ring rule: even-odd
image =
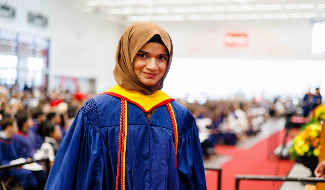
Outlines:
{"type": "Polygon", "coordinates": [[[289,149],[291,158],[294,159],[297,155],[318,156],[320,148],[320,131],[321,125],[319,123],[313,123],[307,125],[304,131],[301,131],[294,137],[292,147],[289,149]]]}

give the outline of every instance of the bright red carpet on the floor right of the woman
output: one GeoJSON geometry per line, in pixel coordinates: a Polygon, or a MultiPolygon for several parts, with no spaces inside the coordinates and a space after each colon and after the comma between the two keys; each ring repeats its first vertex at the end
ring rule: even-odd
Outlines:
{"type": "MultiPolygon", "coordinates": [[[[284,137],[285,131],[278,132],[279,140],[284,137]]],[[[268,138],[272,138],[268,137],[268,138]]],[[[277,143],[278,145],[280,142],[277,143]]],[[[242,150],[235,146],[218,145],[216,152],[219,155],[231,155],[232,160],[221,165],[222,167],[222,190],[235,189],[235,175],[275,175],[277,164],[279,166],[278,175],[285,176],[288,174],[294,161],[280,160],[267,157],[267,139],[259,142],[250,149],[242,150]]],[[[206,182],[208,190],[215,190],[217,173],[213,171],[206,172],[206,182]]],[[[282,182],[269,181],[248,181],[241,180],[239,190],[277,190],[282,182]]]]}

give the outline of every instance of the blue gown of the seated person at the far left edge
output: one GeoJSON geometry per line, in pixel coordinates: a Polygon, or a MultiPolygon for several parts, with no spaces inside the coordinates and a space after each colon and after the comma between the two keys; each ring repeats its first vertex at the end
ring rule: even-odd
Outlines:
{"type": "MultiPolygon", "coordinates": [[[[0,165],[8,164],[11,160],[16,160],[21,156],[17,153],[16,147],[18,146],[18,141],[14,137],[9,141],[0,137],[0,165]]],[[[3,172],[8,176],[14,176],[14,178],[24,187],[24,189],[34,188],[38,184],[40,172],[32,172],[25,169],[12,169],[3,172]]],[[[44,172],[42,172],[44,174],[44,172]]],[[[41,178],[41,179],[44,179],[41,178]]]]}

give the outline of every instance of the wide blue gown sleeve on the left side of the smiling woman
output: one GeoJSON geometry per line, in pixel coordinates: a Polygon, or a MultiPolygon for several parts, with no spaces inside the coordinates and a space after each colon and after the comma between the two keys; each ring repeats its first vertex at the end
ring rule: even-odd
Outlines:
{"type": "Polygon", "coordinates": [[[95,101],[79,110],[64,137],[45,190],[102,189],[103,159],[95,101]]]}

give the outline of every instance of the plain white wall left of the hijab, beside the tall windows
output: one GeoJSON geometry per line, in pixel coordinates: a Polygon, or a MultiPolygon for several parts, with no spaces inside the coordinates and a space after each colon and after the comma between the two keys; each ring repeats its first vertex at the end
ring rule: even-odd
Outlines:
{"type": "MultiPolygon", "coordinates": [[[[0,0],[4,3],[5,0],[0,0]]],[[[0,18],[0,30],[43,36],[50,39],[49,88],[54,88],[55,76],[95,78],[98,93],[115,84],[112,71],[115,52],[123,32],[121,25],[87,14],[66,0],[8,0],[17,8],[14,20],[0,18]],[[47,28],[27,23],[28,11],[48,17],[47,28]]]]}

